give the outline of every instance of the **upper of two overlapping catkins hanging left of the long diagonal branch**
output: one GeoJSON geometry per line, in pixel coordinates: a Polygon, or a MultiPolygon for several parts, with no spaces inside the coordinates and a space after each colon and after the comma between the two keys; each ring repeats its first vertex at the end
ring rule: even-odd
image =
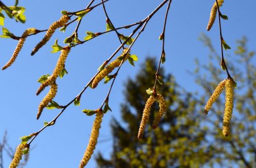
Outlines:
{"type": "Polygon", "coordinates": [[[63,50],[61,50],[60,57],[57,61],[57,64],[52,72],[52,75],[48,77],[46,81],[44,81],[40,87],[38,88],[38,91],[36,92],[36,95],[40,94],[44,88],[46,88],[48,85],[51,85],[52,83],[55,83],[55,80],[60,75],[60,72],[64,68],[65,61],[68,57],[68,53],[71,50],[69,46],[65,46],[63,50]]]}

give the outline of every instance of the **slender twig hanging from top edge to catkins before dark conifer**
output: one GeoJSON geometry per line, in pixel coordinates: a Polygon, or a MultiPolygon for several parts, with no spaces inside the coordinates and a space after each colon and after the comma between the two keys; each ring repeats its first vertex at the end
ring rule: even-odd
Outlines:
{"type": "Polygon", "coordinates": [[[156,73],[155,73],[155,85],[154,85],[154,92],[153,94],[156,95],[156,83],[158,81],[158,76],[159,76],[159,70],[160,70],[160,64],[161,64],[161,61],[163,59],[163,56],[165,55],[165,51],[164,51],[164,41],[165,41],[165,33],[166,33],[166,23],[167,23],[167,16],[168,16],[168,12],[170,10],[170,6],[171,6],[171,3],[172,3],[172,0],[169,0],[169,3],[168,3],[168,6],[167,6],[167,10],[166,10],[166,16],[164,18],[164,27],[163,27],[163,32],[161,34],[162,38],[163,38],[163,43],[162,43],[162,54],[161,54],[161,57],[160,57],[160,60],[159,60],[159,63],[158,63],[158,70],[156,70],[156,73]]]}

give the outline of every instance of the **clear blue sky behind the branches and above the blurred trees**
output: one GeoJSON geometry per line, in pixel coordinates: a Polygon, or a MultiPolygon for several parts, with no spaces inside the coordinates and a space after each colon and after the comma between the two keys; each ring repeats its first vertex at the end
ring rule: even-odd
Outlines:
{"type": "MultiPolygon", "coordinates": [[[[3,1],[13,5],[10,1],[3,1]]],[[[46,29],[60,18],[60,11],[77,11],[87,5],[89,1],[20,1],[20,6],[25,6],[26,24],[15,23],[6,19],[5,27],[15,35],[20,36],[29,27],[46,29]]],[[[100,1],[96,1],[98,3],[100,1]]],[[[134,23],[145,18],[162,1],[117,1],[110,0],[106,3],[110,19],[116,27],[134,23]]],[[[173,1],[168,16],[166,29],[166,63],[167,72],[175,75],[177,82],[188,91],[196,91],[198,87],[193,83],[193,77],[187,71],[195,68],[194,59],[201,62],[208,61],[208,49],[198,40],[200,33],[207,34],[217,48],[220,46],[217,22],[210,32],[206,31],[210,8],[214,1],[173,1]]],[[[167,5],[166,5],[167,6],[167,5]]],[[[225,54],[232,55],[236,49],[236,40],[242,36],[249,39],[249,48],[255,49],[256,44],[256,1],[226,1],[221,8],[229,20],[222,21],[223,36],[232,47],[225,54]]],[[[100,131],[99,143],[95,153],[102,152],[109,157],[112,150],[112,135],[109,128],[111,118],[120,120],[120,104],[123,102],[123,84],[127,77],[138,73],[139,65],[147,55],[159,58],[162,42],[158,40],[162,32],[163,19],[166,7],[162,8],[152,18],[141,38],[135,43],[132,54],[137,54],[139,61],[135,68],[125,63],[121,68],[113,92],[110,95],[109,105],[113,112],[104,117],[100,131]]],[[[67,28],[64,34],[57,31],[46,46],[39,50],[34,57],[30,56],[32,48],[40,41],[44,33],[27,38],[22,51],[13,66],[5,71],[0,71],[0,137],[5,130],[8,131],[8,140],[11,146],[20,143],[19,137],[29,135],[39,130],[44,121],[49,121],[59,110],[44,110],[42,117],[36,120],[38,104],[45,96],[44,91],[39,96],[35,95],[39,87],[36,81],[41,75],[51,74],[59,57],[59,53],[51,54],[50,46],[58,37],[63,41],[71,35],[75,24],[67,28]]],[[[105,15],[102,7],[97,7],[82,20],[79,36],[83,38],[86,31],[105,31],[105,15]]],[[[123,31],[129,35],[130,31],[123,31]]],[[[17,41],[0,38],[0,65],[3,66],[13,54],[17,41]]],[[[63,45],[60,43],[60,45],[63,45]]],[[[75,97],[89,79],[96,73],[97,68],[119,46],[114,33],[108,33],[94,40],[72,48],[67,59],[66,68],[69,72],[63,79],[57,80],[59,84],[55,101],[61,105],[67,104],[75,97]]],[[[219,51],[219,50],[218,50],[219,51]]],[[[233,58],[233,57],[231,57],[233,58]]],[[[81,98],[81,105],[69,106],[64,114],[57,120],[55,126],[48,127],[32,143],[30,160],[27,167],[78,167],[84,154],[90,130],[94,120],[82,113],[82,109],[97,109],[108,92],[110,84],[100,84],[94,90],[88,89],[81,98]]],[[[46,89],[48,90],[48,89],[46,89]]],[[[94,156],[87,167],[96,167],[94,156]]],[[[10,160],[6,158],[5,167],[10,160]]]]}

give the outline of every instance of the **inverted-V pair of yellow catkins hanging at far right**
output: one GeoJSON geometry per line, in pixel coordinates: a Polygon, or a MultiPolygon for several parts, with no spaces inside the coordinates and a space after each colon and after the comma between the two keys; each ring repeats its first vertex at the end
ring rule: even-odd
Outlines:
{"type": "Polygon", "coordinates": [[[204,107],[205,115],[208,114],[210,107],[212,107],[213,103],[218,99],[221,92],[226,88],[226,102],[225,102],[225,110],[224,110],[224,117],[223,117],[223,127],[222,133],[224,136],[228,136],[230,133],[230,120],[232,118],[233,113],[233,98],[234,98],[234,87],[235,82],[232,78],[225,79],[221,81],[220,84],[214,90],[212,96],[210,96],[207,105],[204,107]]]}

